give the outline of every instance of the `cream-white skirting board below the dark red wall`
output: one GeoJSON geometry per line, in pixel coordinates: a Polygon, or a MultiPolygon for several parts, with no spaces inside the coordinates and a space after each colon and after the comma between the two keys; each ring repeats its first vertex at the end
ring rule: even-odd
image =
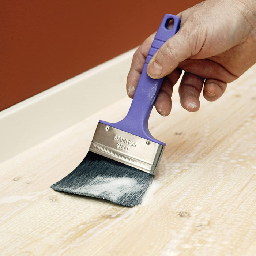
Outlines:
{"type": "Polygon", "coordinates": [[[0,112],[0,163],[126,95],[136,49],[0,112]]]}

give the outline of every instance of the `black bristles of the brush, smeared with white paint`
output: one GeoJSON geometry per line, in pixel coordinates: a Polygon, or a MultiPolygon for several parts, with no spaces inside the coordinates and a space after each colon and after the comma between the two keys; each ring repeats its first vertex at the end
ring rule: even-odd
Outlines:
{"type": "Polygon", "coordinates": [[[73,172],[51,188],[135,206],[141,204],[153,178],[152,174],[89,151],[73,172]]]}

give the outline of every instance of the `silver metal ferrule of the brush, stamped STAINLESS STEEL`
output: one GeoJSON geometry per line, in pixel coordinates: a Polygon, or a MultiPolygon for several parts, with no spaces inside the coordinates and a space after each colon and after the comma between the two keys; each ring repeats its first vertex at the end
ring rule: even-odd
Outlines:
{"type": "Polygon", "coordinates": [[[98,123],[89,151],[155,174],[165,146],[98,123]]]}

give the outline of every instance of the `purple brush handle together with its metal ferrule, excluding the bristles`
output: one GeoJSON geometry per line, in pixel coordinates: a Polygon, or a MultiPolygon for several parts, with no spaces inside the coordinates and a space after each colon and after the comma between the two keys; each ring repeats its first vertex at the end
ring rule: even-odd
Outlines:
{"type": "Polygon", "coordinates": [[[90,151],[155,174],[166,144],[151,135],[148,118],[164,78],[150,78],[147,75],[147,66],[157,50],[177,33],[180,22],[180,18],[172,14],[163,17],[148,52],[127,115],[116,123],[99,120],[90,151]],[[170,20],[173,20],[172,29],[167,27],[170,20]]]}

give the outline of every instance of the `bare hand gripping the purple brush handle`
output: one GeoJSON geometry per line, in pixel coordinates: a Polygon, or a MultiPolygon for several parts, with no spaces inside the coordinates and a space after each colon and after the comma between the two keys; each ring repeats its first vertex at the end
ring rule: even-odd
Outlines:
{"type": "MultiPolygon", "coordinates": [[[[165,76],[155,102],[159,114],[172,108],[173,86],[182,77],[179,94],[183,108],[197,111],[199,95],[215,101],[227,83],[236,80],[256,62],[255,0],[207,0],[180,12],[180,30],[155,53],[148,64],[151,78],[165,76]]],[[[127,94],[133,98],[155,33],[136,50],[127,77],[127,94]]]]}

